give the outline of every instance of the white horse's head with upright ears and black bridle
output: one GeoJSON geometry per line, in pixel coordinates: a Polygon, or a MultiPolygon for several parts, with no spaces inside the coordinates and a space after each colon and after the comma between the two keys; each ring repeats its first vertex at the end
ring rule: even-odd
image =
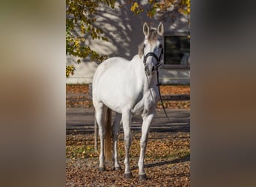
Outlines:
{"type": "Polygon", "coordinates": [[[159,23],[157,30],[150,29],[147,23],[143,25],[143,33],[145,35],[143,43],[143,63],[147,75],[151,75],[161,65],[163,47],[162,34],[164,28],[162,22],[159,23]]]}

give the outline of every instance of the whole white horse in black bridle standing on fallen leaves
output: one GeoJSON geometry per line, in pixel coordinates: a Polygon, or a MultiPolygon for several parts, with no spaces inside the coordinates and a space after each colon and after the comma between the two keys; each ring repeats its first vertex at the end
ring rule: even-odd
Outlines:
{"type": "Polygon", "coordinates": [[[160,66],[163,53],[162,22],[156,30],[150,29],[147,23],[144,23],[143,33],[144,42],[138,46],[138,55],[135,55],[131,61],[124,58],[109,58],[97,67],[93,79],[93,102],[100,136],[99,171],[105,171],[105,156],[107,159],[111,154],[111,130],[114,169],[121,170],[118,163],[118,134],[122,123],[126,153],[124,177],[127,179],[132,177],[129,168],[131,119],[132,114],[141,114],[143,123],[138,160],[138,176],[141,180],[146,179],[144,153],[147,146],[147,133],[156,113],[156,103],[159,99],[156,71],[160,66]],[[111,110],[116,112],[112,125],[111,110]]]}

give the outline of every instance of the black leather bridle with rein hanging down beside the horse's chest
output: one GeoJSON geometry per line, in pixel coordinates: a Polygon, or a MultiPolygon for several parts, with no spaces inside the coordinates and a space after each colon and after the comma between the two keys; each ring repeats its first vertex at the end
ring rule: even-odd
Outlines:
{"type": "Polygon", "coordinates": [[[161,50],[161,54],[160,54],[159,58],[153,52],[148,52],[147,55],[144,55],[144,48],[143,48],[143,57],[144,57],[143,58],[143,64],[144,64],[144,66],[146,66],[147,58],[150,57],[150,56],[152,56],[153,58],[156,58],[156,61],[157,61],[157,64],[156,64],[157,84],[156,84],[156,86],[158,87],[158,92],[159,92],[159,97],[160,97],[161,104],[162,104],[162,109],[164,110],[165,116],[167,117],[168,121],[171,122],[171,120],[169,119],[168,114],[167,114],[167,112],[165,110],[165,105],[162,102],[162,95],[161,95],[161,92],[160,92],[160,85],[161,85],[161,83],[159,82],[159,71],[158,71],[158,68],[162,66],[162,64],[160,64],[160,61],[162,59],[162,54],[163,54],[163,49],[161,50]]]}

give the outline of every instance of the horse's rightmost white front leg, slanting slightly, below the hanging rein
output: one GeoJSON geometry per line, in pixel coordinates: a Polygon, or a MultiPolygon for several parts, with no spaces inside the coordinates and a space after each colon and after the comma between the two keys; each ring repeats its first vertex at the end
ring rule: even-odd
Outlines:
{"type": "Polygon", "coordinates": [[[147,135],[150,127],[150,123],[153,120],[153,117],[155,115],[155,112],[153,114],[145,114],[143,116],[143,123],[141,127],[141,152],[138,159],[138,177],[140,180],[145,180],[146,174],[144,171],[144,154],[147,147],[147,135]]]}

